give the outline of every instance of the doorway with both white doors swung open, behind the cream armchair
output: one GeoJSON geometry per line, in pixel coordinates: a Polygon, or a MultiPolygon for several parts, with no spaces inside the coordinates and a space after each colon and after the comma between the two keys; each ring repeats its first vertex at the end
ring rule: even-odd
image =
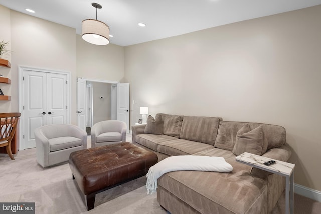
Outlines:
{"type": "Polygon", "coordinates": [[[129,106],[129,83],[77,78],[77,124],[87,134],[104,120],[120,120],[129,127],[129,106]]]}

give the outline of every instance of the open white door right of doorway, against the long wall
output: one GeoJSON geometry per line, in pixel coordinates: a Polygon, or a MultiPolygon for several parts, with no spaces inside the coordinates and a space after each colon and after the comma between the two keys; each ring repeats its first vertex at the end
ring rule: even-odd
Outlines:
{"type": "Polygon", "coordinates": [[[117,83],[117,120],[127,125],[129,133],[129,83],[117,83]]]}

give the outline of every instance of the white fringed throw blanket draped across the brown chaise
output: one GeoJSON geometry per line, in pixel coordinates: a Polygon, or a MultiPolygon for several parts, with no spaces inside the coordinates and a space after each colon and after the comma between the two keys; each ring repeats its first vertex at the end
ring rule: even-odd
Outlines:
{"type": "Polygon", "coordinates": [[[147,177],[147,194],[156,192],[157,179],[170,171],[230,172],[233,167],[223,157],[179,155],[168,157],[150,167],[147,177]]]}

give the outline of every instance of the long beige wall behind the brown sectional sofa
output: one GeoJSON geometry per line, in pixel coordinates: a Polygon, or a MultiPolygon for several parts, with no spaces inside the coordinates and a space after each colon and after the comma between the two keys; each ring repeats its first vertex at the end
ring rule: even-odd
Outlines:
{"type": "Polygon", "coordinates": [[[132,121],[220,116],[287,131],[295,183],[321,190],[321,6],[125,47],[132,121]]]}

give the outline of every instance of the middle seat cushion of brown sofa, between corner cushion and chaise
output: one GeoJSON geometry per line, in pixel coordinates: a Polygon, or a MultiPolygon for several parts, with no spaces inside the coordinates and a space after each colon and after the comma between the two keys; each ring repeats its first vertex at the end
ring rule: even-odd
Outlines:
{"type": "Polygon", "coordinates": [[[165,141],[158,144],[158,152],[169,156],[190,155],[213,148],[212,145],[184,139],[165,141]]]}

